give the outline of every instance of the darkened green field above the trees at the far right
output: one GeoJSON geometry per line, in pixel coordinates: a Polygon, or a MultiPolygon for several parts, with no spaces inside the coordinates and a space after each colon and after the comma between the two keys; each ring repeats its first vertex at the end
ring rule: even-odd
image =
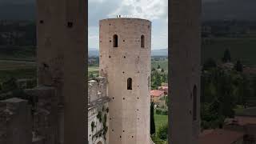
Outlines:
{"type": "Polygon", "coordinates": [[[207,58],[221,60],[226,49],[230,50],[231,61],[240,59],[244,64],[256,65],[256,38],[204,38],[202,62],[207,58]]]}

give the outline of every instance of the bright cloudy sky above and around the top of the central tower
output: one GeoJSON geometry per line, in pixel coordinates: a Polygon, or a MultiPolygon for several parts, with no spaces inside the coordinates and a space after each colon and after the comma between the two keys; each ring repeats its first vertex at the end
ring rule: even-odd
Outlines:
{"type": "Polygon", "coordinates": [[[133,15],[152,22],[152,49],[168,46],[168,0],[89,0],[89,48],[98,49],[98,21],[133,15]]]}

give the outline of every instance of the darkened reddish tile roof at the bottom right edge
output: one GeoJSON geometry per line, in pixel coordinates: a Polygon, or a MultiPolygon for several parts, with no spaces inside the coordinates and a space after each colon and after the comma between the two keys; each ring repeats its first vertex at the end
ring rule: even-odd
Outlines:
{"type": "Polygon", "coordinates": [[[232,144],[243,138],[243,133],[216,129],[199,135],[199,144],[232,144]]]}

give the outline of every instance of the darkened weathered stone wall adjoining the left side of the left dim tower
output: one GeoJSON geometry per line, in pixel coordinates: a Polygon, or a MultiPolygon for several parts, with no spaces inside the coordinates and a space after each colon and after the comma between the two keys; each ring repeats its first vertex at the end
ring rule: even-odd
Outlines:
{"type": "Polygon", "coordinates": [[[33,142],[58,142],[58,98],[56,89],[50,86],[38,86],[25,90],[34,100],[32,113],[33,142]]]}

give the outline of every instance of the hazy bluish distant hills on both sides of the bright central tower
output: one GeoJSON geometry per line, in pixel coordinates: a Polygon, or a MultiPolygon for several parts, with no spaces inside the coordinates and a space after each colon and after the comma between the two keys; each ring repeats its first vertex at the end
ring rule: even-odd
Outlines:
{"type": "MultiPolygon", "coordinates": [[[[95,48],[90,48],[88,50],[89,56],[98,56],[99,52],[95,48]]],[[[168,49],[158,49],[158,50],[151,50],[151,56],[167,56],[168,49]]]]}

